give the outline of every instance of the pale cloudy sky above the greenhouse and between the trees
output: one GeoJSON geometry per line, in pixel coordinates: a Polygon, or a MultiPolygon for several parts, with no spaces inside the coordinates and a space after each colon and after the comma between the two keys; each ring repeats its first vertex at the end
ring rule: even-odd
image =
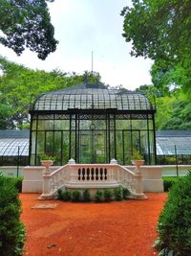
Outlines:
{"type": "Polygon", "coordinates": [[[17,57],[11,49],[0,45],[0,54],[32,69],[64,72],[93,70],[101,81],[127,89],[151,84],[151,59],[130,56],[131,43],[122,37],[123,17],[120,11],[131,0],[55,0],[49,4],[57,49],[46,60],[26,50],[17,57]]]}

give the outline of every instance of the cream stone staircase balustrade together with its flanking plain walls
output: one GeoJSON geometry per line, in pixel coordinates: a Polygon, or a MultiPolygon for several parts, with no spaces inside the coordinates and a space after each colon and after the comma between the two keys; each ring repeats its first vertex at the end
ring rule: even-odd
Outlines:
{"type": "Polygon", "coordinates": [[[120,166],[110,164],[75,164],[74,159],[62,167],[25,167],[23,193],[42,193],[41,198],[53,198],[58,189],[114,189],[127,187],[132,198],[146,198],[144,192],[162,192],[160,166],[120,166]]]}

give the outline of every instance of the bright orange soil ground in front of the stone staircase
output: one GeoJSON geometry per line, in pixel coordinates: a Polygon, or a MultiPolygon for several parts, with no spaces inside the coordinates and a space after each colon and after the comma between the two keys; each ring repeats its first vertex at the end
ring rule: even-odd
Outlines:
{"type": "Polygon", "coordinates": [[[157,221],[167,194],[147,194],[147,200],[111,203],[37,201],[21,194],[22,221],[27,230],[24,256],[157,255],[157,221]],[[54,209],[32,209],[36,203],[54,209]]]}

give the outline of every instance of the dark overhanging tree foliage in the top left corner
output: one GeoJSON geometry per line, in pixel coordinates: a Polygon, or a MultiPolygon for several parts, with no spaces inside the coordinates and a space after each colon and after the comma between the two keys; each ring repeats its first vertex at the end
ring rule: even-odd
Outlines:
{"type": "Polygon", "coordinates": [[[45,59],[56,49],[47,2],[53,0],[1,0],[0,43],[21,55],[25,48],[45,59]]]}

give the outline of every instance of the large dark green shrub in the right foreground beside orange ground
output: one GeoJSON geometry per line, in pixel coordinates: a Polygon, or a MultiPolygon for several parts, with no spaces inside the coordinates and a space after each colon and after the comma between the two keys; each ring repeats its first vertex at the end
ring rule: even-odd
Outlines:
{"type": "Polygon", "coordinates": [[[158,232],[160,255],[191,255],[191,173],[170,189],[158,232]]]}

